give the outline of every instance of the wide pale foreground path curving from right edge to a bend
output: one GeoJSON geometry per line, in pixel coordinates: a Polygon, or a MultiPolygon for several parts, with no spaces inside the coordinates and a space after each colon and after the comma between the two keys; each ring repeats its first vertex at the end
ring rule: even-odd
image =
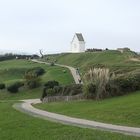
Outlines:
{"type": "Polygon", "coordinates": [[[13,107],[21,112],[45,120],[51,120],[54,122],[60,122],[62,124],[79,126],[82,128],[101,129],[101,130],[119,132],[127,135],[140,137],[140,128],[100,123],[96,121],[89,121],[86,119],[78,119],[78,118],[68,117],[65,115],[51,113],[51,112],[34,108],[32,106],[32,104],[37,104],[37,103],[41,103],[41,101],[39,99],[28,99],[28,100],[22,100],[22,103],[14,104],[13,107]]]}

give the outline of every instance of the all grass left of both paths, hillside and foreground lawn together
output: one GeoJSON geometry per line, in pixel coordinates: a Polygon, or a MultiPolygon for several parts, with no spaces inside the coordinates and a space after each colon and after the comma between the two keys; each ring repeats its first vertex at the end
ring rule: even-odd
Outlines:
{"type": "MultiPolygon", "coordinates": [[[[61,84],[73,83],[69,70],[60,67],[50,67],[25,60],[0,62],[0,82],[7,85],[23,80],[23,74],[29,68],[41,66],[46,73],[41,77],[42,83],[57,80],[61,84]],[[66,73],[63,73],[66,70],[66,73]]],[[[6,90],[0,91],[0,140],[138,140],[137,137],[125,136],[99,130],[83,129],[62,125],[34,118],[12,108],[18,100],[40,98],[42,87],[33,90],[20,89],[17,94],[6,90]]]]}

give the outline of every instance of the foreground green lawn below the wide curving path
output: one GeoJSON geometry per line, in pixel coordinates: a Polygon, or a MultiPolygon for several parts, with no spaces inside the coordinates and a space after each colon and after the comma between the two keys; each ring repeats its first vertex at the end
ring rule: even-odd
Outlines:
{"type": "Polygon", "coordinates": [[[1,140],[138,140],[133,136],[83,129],[28,116],[12,108],[13,101],[0,102],[1,140]]]}

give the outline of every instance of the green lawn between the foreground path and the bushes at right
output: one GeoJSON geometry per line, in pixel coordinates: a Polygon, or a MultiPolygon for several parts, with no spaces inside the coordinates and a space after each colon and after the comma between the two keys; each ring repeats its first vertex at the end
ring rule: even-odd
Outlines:
{"type": "Polygon", "coordinates": [[[140,92],[103,101],[55,102],[35,107],[72,117],[140,127],[140,92]]]}

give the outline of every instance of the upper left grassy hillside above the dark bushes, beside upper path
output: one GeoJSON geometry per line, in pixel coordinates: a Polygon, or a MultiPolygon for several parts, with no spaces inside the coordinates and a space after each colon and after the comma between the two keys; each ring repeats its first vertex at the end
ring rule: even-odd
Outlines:
{"type": "Polygon", "coordinates": [[[46,70],[46,73],[42,76],[42,82],[56,80],[60,82],[60,84],[74,83],[73,77],[67,68],[61,68],[58,66],[51,67],[27,60],[3,61],[0,62],[0,66],[0,82],[4,82],[6,84],[23,80],[26,70],[33,67],[42,67],[46,70]],[[66,73],[64,73],[63,70],[65,70],[66,73]]]}

